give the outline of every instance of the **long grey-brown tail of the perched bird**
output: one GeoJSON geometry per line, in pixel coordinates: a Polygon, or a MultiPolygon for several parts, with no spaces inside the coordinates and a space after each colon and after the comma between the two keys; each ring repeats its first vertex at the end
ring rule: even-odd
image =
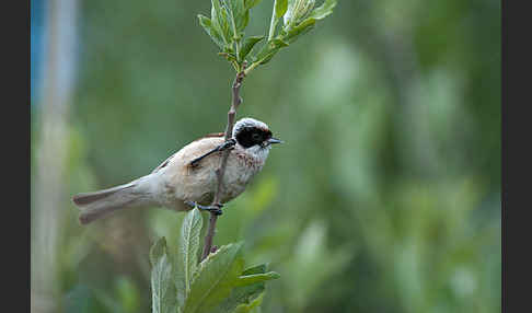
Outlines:
{"type": "Polygon", "coordinates": [[[88,224],[115,210],[154,204],[149,190],[149,176],[108,189],[78,194],[72,197],[72,200],[81,210],[79,219],[82,224],[88,224]]]}

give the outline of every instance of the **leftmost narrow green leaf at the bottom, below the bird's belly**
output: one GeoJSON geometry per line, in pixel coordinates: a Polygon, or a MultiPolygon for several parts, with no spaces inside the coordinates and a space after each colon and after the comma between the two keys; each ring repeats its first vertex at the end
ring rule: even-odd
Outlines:
{"type": "Polygon", "coordinates": [[[173,313],[177,310],[172,265],[166,254],[166,240],[161,237],[150,250],[151,294],[153,313],[173,313]]]}

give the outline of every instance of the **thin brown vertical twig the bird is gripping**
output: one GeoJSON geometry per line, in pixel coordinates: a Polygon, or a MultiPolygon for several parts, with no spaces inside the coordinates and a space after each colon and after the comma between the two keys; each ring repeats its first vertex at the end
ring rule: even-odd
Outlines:
{"type": "MultiPolygon", "coordinates": [[[[242,86],[242,81],[245,77],[245,67],[246,62],[242,63],[241,71],[236,73],[234,78],[233,85],[232,85],[232,103],[231,108],[228,112],[228,126],[225,127],[225,141],[233,137],[233,126],[234,126],[234,117],[236,115],[236,109],[239,105],[242,103],[242,98],[240,97],[240,88],[242,86]]],[[[218,179],[218,187],[215,194],[215,199],[212,200],[212,206],[220,204],[220,198],[223,189],[223,175],[225,174],[225,167],[228,164],[229,153],[231,152],[230,149],[224,150],[222,153],[222,160],[220,167],[216,171],[216,176],[218,179]]],[[[207,235],[205,236],[205,245],[204,245],[204,253],[201,255],[201,260],[205,259],[210,252],[212,252],[212,239],[215,237],[215,230],[216,230],[216,221],[218,220],[218,215],[215,212],[210,213],[209,219],[209,229],[207,231],[207,235]]]]}

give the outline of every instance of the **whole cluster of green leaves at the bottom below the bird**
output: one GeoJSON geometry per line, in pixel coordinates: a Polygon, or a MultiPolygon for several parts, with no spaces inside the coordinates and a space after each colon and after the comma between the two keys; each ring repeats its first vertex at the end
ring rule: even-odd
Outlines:
{"type": "Polygon", "coordinates": [[[243,243],[223,245],[198,264],[201,227],[199,210],[188,211],[182,223],[177,263],[169,260],[164,237],[151,247],[152,312],[256,310],[265,281],[277,279],[279,275],[266,271],[266,265],[244,270],[243,243]]]}

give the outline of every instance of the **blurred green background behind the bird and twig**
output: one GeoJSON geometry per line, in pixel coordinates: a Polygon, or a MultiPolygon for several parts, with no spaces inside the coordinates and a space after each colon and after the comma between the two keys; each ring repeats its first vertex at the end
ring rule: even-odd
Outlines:
{"type": "MultiPolygon", "coordinates": [[[[70,197],[224,129],[234,73],[198,24],[209,12],[32,1],[33,312],[150,312],[149,247],[183,215],[81,227],[70,197]]],[[[245,240],[248,265],[281,275],[263,312],[500,312],[500,1],[340,0],[242,96],[238,117],[286,144],[215,243],[245,240]]]]}

